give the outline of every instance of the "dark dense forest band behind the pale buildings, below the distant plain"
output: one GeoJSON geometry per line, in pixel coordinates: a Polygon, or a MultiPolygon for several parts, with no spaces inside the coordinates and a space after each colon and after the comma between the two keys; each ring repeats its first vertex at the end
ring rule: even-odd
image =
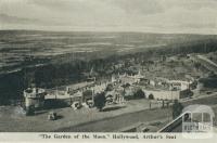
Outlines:
{"type": "Polygon", "coordinates": [[[129,66],[129,60],[137,63],[150,61],[151,57],[162,55],[169,56],[188,53],[208,53],[217,51],[216,40],[204,40],[191,43],[170,44],[161,48],[151,48],[145,51],[124,55],[110,55],[93,60],[74,60],[61,57],[49,62],[43,66],[23,67],[22,70],[0,75],[0,105],[10,104],[11,100],[22,99],[23,90],[30,83],[40,88],[53,88],[58,86],[75,83],[86,80],[84,73],[94,69],[94,76],[106,77],[114,73],[122,73],[129,66]],[[65,60],[64,60],[65,58],[65,60]],[[116,64],[123,64],[123,68],[115,68],[116,64]]]}

